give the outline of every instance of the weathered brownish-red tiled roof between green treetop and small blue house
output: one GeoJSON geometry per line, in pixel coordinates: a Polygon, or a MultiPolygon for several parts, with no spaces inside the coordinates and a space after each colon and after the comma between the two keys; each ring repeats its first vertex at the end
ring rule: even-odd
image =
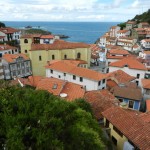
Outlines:
{"type": "Polygon", "coordinates": [[[96,119],[102,118],[103,111],[119,103],[108,90],[89,91],[84,98],[91,105],[96,119]]]}

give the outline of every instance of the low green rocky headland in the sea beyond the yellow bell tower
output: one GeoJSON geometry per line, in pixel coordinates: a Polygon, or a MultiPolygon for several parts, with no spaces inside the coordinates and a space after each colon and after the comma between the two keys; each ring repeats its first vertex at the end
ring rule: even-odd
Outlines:
{"type": "Polygon", "coordinates": [[[51,32],[42,29],[26,29],[24,32],[25,34],[51,34],[51,32]]]}

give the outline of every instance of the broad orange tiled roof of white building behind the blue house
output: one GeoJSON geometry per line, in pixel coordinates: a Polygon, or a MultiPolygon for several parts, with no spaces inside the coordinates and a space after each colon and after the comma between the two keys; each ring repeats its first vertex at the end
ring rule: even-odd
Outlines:
{"type": "Polygon", "coordinates": [[[121,59],[119,61],[112,62],[112,63],[109,64],[109,66],[119,67],[119,68],[123,68],[126,65],[130,69],[147,70],[146,67],[145,67],[145,65],[143,65],[142,63],[140,63],[138,60],[136,60],[133,57],[126,57],[124,59],[121,59]]]}

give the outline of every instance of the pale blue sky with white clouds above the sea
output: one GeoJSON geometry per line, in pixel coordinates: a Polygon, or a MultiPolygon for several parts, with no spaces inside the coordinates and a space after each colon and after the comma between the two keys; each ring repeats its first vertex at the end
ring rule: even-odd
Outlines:
{"type": "Polygon", "coordinates": [[[150,0],[0,0],[0,21],[124,22],[150,0]]]}

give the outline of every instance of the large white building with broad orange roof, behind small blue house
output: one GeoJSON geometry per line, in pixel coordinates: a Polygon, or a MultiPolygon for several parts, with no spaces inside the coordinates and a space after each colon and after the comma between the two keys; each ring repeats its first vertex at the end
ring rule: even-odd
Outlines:
{"type": "Polygon", "coordinates": [[[141,86],[141,79],[145,78],[147,68],[140,63],[136,58],[127,57],[109,64],[109,72],[122,70],[130,76],[136,77],[137,85],[141,86]]]}

